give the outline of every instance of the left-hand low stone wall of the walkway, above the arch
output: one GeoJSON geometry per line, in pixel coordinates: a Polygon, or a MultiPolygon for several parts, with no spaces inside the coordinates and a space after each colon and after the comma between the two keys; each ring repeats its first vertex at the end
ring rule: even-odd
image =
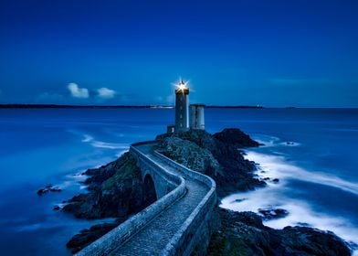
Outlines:
{"type": "MultiPolygon", "coordinates": [[[[145,159],[144,161],[149,161],[149,165],[155,165],[146,157],[146,155],[142,155],[142,153],[136,148],[131,147],[130,151],[137,158],[145,159]]],[[[163,211],[163,209],[171,206],[174,201],[184,196],[184,194],[186,193],[184,178],[180,176],[175,176],[174,174],[167,172],[160,166],[157,166],[157,168],[158,171],[163,173],[163,175],[167,176],[172,181],[175,181],[178,187],[174,188],[174,190],[172,190],[169,194],[157,200],[148,208],[143,209],[141,212],[134,215],[132,218],[127,219],[120,226],[115,229],[112,229],[109,233],[101,237],[99,240],[94,241],[88,247],[84,248],[82,251],[79,251],[79,253],[77,253],[76,255],[107,255],[109,252],[121,246],[121,244],[123,244],[126,240],[129,240],[134,234],[140,231],[147,223],[149,223],[152,219],[159,215],[163,211]]]]}

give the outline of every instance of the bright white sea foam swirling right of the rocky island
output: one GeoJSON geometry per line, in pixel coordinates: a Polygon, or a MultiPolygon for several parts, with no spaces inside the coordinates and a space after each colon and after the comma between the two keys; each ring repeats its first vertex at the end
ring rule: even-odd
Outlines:
{"type": "MultiPolygon", "coordinates": [[[[253,212],[258,212],[258,208],[284,208],[290,212],[286,218],[272,219],[265,221],[265,224],[274,229],[308,225],[317,229],[332,230],[342,239],[358,244],[358,229],[348,219],[315,212],[306,202],[290,198],[287,193],[289,187],[286,187],[289,179],[299,179],[336,187],[358,195],[358,184],[343,180],[338,176],[305,170],[300,166],[293,165],[282,155],[264,155],[247,151],[246,157],[259,164],[258,176],[277,177],[279,183],[269,183],[269,186],[265,188],[225,197],[221,201],[220,207],[253,212]],[[261,173],[262,171],[264,173],[261,173]]],[[[353,255],[358,256],[358,251],[354,251],[353,255]]]]}

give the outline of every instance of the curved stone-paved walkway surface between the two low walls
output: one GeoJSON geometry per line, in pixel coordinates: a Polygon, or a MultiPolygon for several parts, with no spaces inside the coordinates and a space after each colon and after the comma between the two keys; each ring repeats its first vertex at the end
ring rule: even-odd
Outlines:
{"type": "Polygon", "coordinates": [[[110,255],[159,255],[175,232],[184,224],[200,201],[205,197],[209,188],[200,181],[186,178],[174,167],[167,165],[158,156],[153,154],[153,144],[136,146],[144,155],[147,155],[157,165],[178,176],[183,176],[187,192],[171,207],[164,209],[161,214],[148,223],[141,231],[135,234],[121,247],[111,251],[110,255]]]}

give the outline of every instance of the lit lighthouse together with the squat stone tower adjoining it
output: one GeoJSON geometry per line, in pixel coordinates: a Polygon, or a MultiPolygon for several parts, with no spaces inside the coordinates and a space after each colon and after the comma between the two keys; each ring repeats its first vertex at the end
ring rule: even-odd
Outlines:
{"type": "Polygon", "coordinates": [[[189,129],[205,130],[204,104],[188,106],[189,88],[180,80],[175,89],[175,125],[168,125],[167,133],[182,133],[189,129]]]}

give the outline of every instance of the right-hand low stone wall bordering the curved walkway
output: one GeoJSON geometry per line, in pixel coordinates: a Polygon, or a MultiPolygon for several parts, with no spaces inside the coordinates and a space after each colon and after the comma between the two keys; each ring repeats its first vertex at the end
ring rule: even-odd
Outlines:
{"type": "MultiPolygon", "coordinates": [[[[196,179],[210,188],[200,204],[195,208],[188,219],[185,220],[181,229],[175,233],[173,239],[161,253],[161,255],[191,255],[198,242],[203,241],[203,236],[206,236],[204,239],[205,244],[200,246],[207,247],[210,240],[211,230],[209,222],[216,208],[216,183],[211,177],[195,172],[184,165],[180,165],[159,152],[155,152],[155,154],[162,158],[168,165],[172,165],[178,171],[182,172],[184,176],[196,179]]],[[[205,248],[202,248],[202,251],[205,251],[205,248]]]]}

